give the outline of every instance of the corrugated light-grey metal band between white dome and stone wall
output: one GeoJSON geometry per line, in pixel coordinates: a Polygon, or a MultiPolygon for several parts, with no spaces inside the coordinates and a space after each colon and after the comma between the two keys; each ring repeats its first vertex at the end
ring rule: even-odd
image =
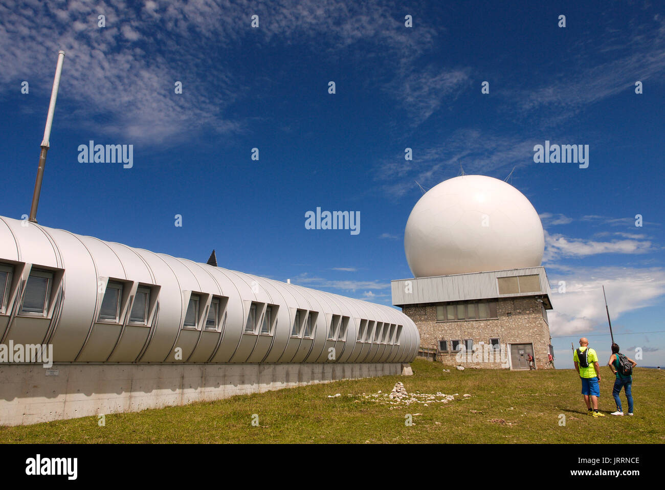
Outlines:
{"type": "Polygon", "coordinates": [[[450,276],[416,277],[391,281],[392,304],[395,306],[441,303],[442,301],[467,301],[473,299],[511,298],[520,296],[544,296],[549,301],[549,282],[545,267],[526,267],[506,271],[489,271],[450,276]],[[499,277],[538,275],[540,291],[499,295],[499,277]]]}

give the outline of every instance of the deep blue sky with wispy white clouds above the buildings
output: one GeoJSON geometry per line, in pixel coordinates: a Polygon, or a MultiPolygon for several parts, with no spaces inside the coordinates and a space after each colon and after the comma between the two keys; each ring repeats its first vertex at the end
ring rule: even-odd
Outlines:
{"type": "Polygon", "coordinates": [[[2,0],[0,214],[29,212],[63,49],[39,223],[390,305],[414,181],[515,168],[566,282],[559,367],[582,334],[609,356],[602,284],[622,350],[665,365],[664,7],[443,4],[2,0]],[[89,140],[134,166],[78,162],[89,140]],[[545,140],[588,144],[589,168],[535,163],[545,140]],[[305,229],[317,206],[360,211],[360,233],[305,229]]]}

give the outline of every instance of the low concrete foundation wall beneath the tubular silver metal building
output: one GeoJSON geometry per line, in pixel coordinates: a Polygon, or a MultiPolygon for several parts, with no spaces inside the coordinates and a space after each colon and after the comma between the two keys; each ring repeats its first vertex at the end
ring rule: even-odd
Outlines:
{"type": "Polygon", "coordinates": [[[0,425],[138,412],[337,380],[408,364],[0,364],[0,425]],[[57,376],[53,376],[57,372],[57,376]],[[49,374],[47,376],[47,374],[49,374]]]}

